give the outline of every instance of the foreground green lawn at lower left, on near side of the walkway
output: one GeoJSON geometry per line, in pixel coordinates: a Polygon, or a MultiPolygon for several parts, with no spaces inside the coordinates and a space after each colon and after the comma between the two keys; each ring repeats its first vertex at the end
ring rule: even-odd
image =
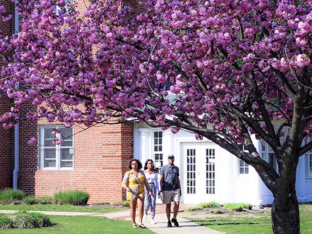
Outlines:
{"type": "Polygon", "coordinates": [[[149,229],[133,229],[131,221],[105,217],[50,216],[53,227],[0,230],[0,234],[153,234],[149,229]]]}

